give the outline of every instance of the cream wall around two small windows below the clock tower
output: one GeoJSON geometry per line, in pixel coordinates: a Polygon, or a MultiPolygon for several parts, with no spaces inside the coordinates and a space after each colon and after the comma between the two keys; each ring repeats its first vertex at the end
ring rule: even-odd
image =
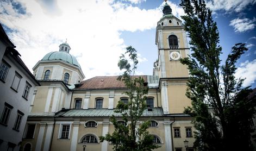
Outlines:
{"type": "Polygon", "coordinates": [[[193,142],[195,141],[195,139],[194,137],[186,137],[186,127],[191,128],[193,136],[193,131],[195,129],[192,127],[191,121],[176,121],[172,124],[172,137],[174,148],[183,148],[183,150],[185,150],[185,140],[189,141],[189,147],[193,147],[193,142]],[[174,137],[174,128],[179,128],[180,137],[174,137]]]}

